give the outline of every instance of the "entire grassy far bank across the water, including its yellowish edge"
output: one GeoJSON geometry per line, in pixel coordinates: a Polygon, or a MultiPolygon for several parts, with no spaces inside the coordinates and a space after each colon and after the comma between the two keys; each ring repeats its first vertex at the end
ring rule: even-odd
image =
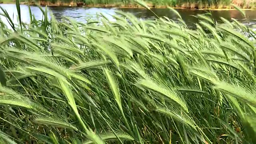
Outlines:
{"type": "MultiPolygon", "coordinates": [[[[15,0],[0,0],[2,4],[14,4],[15,0]]],[[[231,4],[242,9],[256,9],[256,0],[148,0],[145,2],[150,8],[167,8],[168,6],[176,9],[207,9],[207,10],[232,10],[231,4]]],[[[40,5],[40,6],[80,6],[98,8],[143,8],[131,0],[20,0],[20,4],[40,5]]]]}

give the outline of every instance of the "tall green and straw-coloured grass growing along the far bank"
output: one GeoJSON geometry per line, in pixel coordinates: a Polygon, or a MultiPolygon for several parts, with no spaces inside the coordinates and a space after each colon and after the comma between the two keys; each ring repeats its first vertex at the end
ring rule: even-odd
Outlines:
{"type": "MultiPolygon", "coordinates": [[[[10,0],[6,0],[12,3],[10,0]]],[[[134,0],[30,0],[31,4],[35,2],[40,5],[69,6],[76,5],[76,2],[83,2],[86,6],[100,7],[139,7],[134,0]]],[[[4,2],[6,3],[6,2],[4,2]]],[[[230,4],[236,4],[242,8],[256,7],[255,0],[145,0],[145,3],[154,8],[166,8],[167,6],[178,8],[232,8],[230,4]]]]}

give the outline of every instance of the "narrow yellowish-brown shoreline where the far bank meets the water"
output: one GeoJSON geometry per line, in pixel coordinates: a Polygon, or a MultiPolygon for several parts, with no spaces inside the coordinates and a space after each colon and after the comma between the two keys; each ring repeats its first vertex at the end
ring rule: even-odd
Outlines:
{"type": "MultiPolygon", "coordinates": [[[[15,4],[15,2],[4,2],[4,3],[0,3],[0,4],[15,4]]],[[[28,5],[28,2],[20,2],[21,5],[28,5]]],[[[96,4],[96,5],[85,5],[85,6],[77,6],[76,4],[74,4],[73,2],[71,3],[58,3],[58,4],[40,4],[40,3],[32,3],[30,4],[30,6],[56,6],[56,7],[83,7],[83,8],[144,8],[142,6],[138,6],[136,4],[129,4],[129,5],[124,5],[124,4],[96,4]]],[[[183,4],[184,5],[184,4],[183,4]]],[[[191,4],[192,6],[195,6],[196,4],[191,4]]],[[[148,4],[149,8],[167,8],[167,6],[152,6],[152,4],[148,4]]],[[[188,9],[188,10],[236,10],[235,8],[229,7],[229,6],[225,6],[224,8],[197,8],[197,7],[188,7],[188,6],[175,6],[171,8],[174,9],[188,9]]],[[[211,6],[210,6],[211,7],[211,6]]],[[[256,10],[255,8],[240,8],[241,10],[256,10]]]]}

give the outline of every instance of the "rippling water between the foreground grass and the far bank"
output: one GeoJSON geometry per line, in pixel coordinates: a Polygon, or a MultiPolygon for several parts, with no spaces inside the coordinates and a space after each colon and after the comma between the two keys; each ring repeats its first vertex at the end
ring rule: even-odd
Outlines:
{"type": "MultiPolygon", "coordinates": [[[[2,8],[6,9],[11,18],[13,18],[14,22],[17,23],[17,11],[15,4],[0,4],[2,8]]],[[[43,9],[45,7],[42,7],[43,9]]],[[[97,13],[103,13],[110,20],[113,18],[109,14],[115,14],[116,10],[122,10],[124,12],[130,12],[134,14],[138,18],[142,19],[154,19],[155,15],[149,10],[142,8],[82,8],[82,7],[57,7],[57,6],[48,6],[48,11],[52,12],[57,20],[61,20],[63,16],[70,17],[79,22],[86,22],[86,19],[96,19],[97,13]]],[[[23,22],[29,22],[29,12],[28,6],[21,5],[21,15],[23,22]]],[[[42,12],[36,6],[31,6],[32,13],[35,15],[36,19],[42,19],[42,12]]],[[[177,16],[170,11],[169,9],[164,8],[153,8],[152,11],[156,13],[159,17],[166,16],[172,20],[177,20],[177,16]]],[[[206,14],[211,13],[212,18],[217,22],[222,22],[220,17],[226,18],[229,21],[232,21],[232,18],[244,23],[244,24],[256,24],[256,10],[245,10],[246,18],[242,16],[242,14],[237,10],[190,10],[190,9],[177,9],[177,11],[182,16],[183,20],[189,27],[194,27],[194,24],[198,22],[198,19],[191,15],[197,14],[206,14]]],[[[2,11],[0,10],[0,13],[2,11]]],[[[50,17],[50,13],[48,14],[50,17]]],[[[7,22],[3,16],[0,16],[2,21],[7,22]]]]}

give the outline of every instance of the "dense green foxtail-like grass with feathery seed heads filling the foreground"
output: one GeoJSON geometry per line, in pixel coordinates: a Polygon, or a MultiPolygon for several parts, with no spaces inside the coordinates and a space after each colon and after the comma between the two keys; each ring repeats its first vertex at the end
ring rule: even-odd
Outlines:
{"type": "Polygon", "coordinates": [[[24,24],[17,9],[18,25],[0,22],[2,143],[256,143],[250,28],[120,11],[60,23],[47,9],[24,24]]]}

